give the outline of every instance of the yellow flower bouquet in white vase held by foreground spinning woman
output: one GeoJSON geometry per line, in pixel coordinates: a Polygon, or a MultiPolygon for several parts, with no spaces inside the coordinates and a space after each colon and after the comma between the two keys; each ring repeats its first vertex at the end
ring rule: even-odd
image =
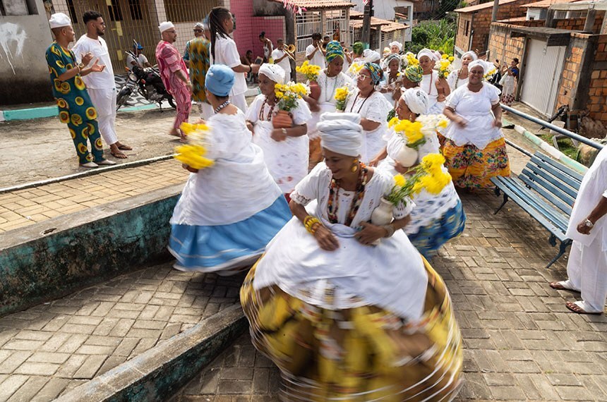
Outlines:
{"type": "Polygon", "coordinates": [[[418,194],[421,190],[426,190],[431,194],[439,194],[445,188],[445,185],[451,181],[451,175],[443,171],[445,158],[441,154],[428,154],[421,163],[414,168],[414,173],[407,178],[402,174],[394,177],[395,185],[392,187],[390,195],[385,199],[392,205],[399,205],[404,202],[407,204],[407,198],[418,194]]]}

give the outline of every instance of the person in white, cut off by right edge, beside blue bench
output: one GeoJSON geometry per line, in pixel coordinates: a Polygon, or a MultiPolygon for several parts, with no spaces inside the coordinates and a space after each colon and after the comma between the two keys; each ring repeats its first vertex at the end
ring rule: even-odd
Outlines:
{"type": "Polygon", "coordinates": [[[602,314],[607,298],[607,147],[584,175],[571,212],[567,237],[573,240],[567,280],[551,288],[581,291],[582,300],[567,302],[578,314],[602,314]]]}

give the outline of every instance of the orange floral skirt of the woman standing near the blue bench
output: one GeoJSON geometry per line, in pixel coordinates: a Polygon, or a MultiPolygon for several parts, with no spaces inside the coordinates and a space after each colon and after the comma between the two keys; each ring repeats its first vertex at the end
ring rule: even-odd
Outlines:
{"type": "Polygon", "coordinates": [[[472,144],[458,147],[445,138],[445,166],[459,188],[492,188],[491,178],[510,176],[510,162],[504,138],[489,142],[482,150],[472,144]]]}

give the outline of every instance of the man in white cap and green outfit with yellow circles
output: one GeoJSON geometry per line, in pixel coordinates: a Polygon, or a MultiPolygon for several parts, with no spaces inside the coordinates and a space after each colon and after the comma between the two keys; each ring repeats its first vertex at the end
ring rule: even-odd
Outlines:
{"type": "Polygon", "coordinates": [[[80,166],[93,168],[100,164],[111,165],[116,162],[103,157],[103,144],[97,124],[97,110],[92,105],[86,85],[82,79],[89,73],[100,73],[105,66],[100,66],[96,59],[91,66],[85,67],[93,56],[82,55],[78,63],[76,55],[68,49],[74,39],[71,20],[64,13],[53,14],[49,25],[55,36],[55,42],[47,49],[47,63],[51,75],[53,96],[59,106],[59,121],[66,123],[70,131],[80,166]],[[90,152],[87,145],[90,141],[90,152]]]}

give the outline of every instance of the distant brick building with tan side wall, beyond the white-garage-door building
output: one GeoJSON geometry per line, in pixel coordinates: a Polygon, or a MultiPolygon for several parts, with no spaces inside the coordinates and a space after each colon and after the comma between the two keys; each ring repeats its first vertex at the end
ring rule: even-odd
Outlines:
{"type": "MultiPolygon", "coordinates": [[[[524,17],[527,10],[520,6],[532,0],[500,0],[498,20],[524,17]]],[[[493,1],[476,6],[457,8],[457,30],[455,31],[455,54],[474,50],[484,54],[489,39],[493,1]]]]}

